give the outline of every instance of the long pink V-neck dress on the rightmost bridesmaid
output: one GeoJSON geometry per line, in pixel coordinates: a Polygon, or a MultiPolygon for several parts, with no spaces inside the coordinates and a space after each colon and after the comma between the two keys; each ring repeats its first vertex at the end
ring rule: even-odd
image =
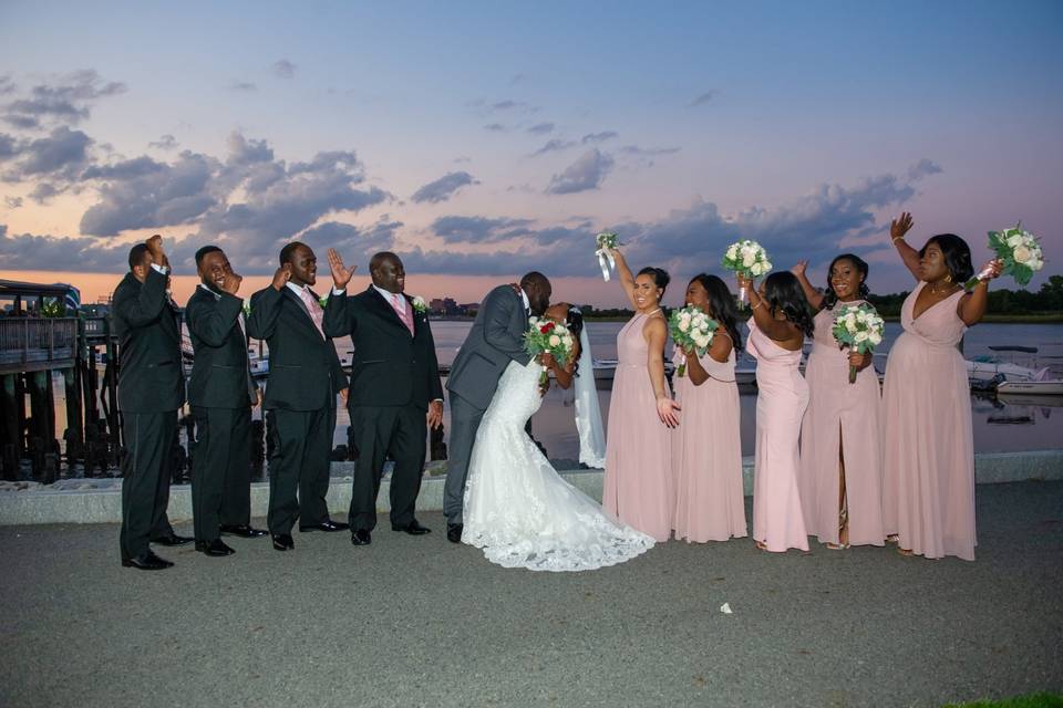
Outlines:
{"type": "Polygon", "coordinates": [[[956,345],[967,325],[963,291],[912,317],[920,282],[900,310],[901,334],[883,392],[883,512],[900,548],[974,560],[974,437],[967,364],[956,345]]]}

